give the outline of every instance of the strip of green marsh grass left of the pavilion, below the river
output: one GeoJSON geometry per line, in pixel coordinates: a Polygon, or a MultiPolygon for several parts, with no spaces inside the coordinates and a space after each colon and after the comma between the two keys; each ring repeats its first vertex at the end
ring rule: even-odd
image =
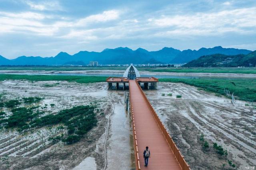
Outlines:
{"type": "Polygon", "coordinates": [[[96,83],[106,81],[107,77],[100,76],[68,76],[68,75],[16,75],[0,74],[0,81],[9,80],[28,80],[28,81],[74,81],[77,83],[96,83]]]}

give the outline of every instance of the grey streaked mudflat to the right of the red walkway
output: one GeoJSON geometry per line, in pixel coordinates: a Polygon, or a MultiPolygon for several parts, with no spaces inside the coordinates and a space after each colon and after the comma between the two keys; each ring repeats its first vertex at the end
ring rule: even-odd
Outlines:
{"type": "Polygon", "coordinates": [[[192,169],[235,169],[228,160],[238,169],[256,166],[256,109],[244,101],[232,105],[231,99],[183,83],[158,83],[158,90],[145,93],[192,169]],[[210,145],[207,149],[201,134],[210,145]],[[213,142],[228,156],[216,153],[213,142]]]}

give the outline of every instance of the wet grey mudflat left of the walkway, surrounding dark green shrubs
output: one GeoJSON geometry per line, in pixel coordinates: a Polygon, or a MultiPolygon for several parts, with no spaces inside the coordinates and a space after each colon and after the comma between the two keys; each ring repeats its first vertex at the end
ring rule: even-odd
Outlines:
{"type": "MultiPolygon", "coordinates": [[[[43,127],[27,133],[0,131],[0,169],[114,169],[122,162],[122,169],[132,168],[130,115],[125,111],[124,91],[107,91],[106,83],[69,83],[66,81],[0,81],[4,100],[22,97],[43,97],[39,104],[46,114],[55,114],[76,105],[97,101],[98,125],[75,144],[52,144],[48,138],[62,133],[58,126],[43,127]],[[53,87],[46,87],[52,84],[53,87]],[[114,103],[114,105],[113,105],[114,103]],[[50,107],[55,104],[55,107],[50,107]],[[47,106],[46,106],[47,105],[47,106]],[[104,113],[104,115],[100,115],[104,113]],[[111,115],[110,115],[111,114],[111,115]],[[108,116],[109,133],[106,140],[108,116]],[[106,140],[106,151],[104,143],[106,140]],[[122,156],[123,152],[127,156],[122,156]],[[106,161],[105,161],[106,153],[106,161]],[[106,165],[105,165],[106,164],[106,165]]],[[[4,108],[8,113],[9,109],[4,108]]]]}

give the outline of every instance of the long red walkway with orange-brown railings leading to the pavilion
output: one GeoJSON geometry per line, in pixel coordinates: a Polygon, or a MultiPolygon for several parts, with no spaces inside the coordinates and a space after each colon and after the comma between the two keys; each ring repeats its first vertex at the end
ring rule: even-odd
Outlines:
{"type": "Polygon", "coordinates": [[[129,80],[129,93],[136,169],[190,170],[137,81],[129,80]],[[148,167],[143,158],[146,146],[151,153],[148,167]]]}

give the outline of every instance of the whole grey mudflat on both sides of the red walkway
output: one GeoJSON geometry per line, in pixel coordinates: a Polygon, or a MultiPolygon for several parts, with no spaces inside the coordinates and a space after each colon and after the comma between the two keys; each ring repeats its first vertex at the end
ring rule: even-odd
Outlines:
{"type": "MultiPolygon", "coordinates": [[[[238,169],[256,165],[256,123],[253,123],[252,117],[256,111],[253,107],[245,106],[244,101],[236,101],[232,105],[226,97],[183,83],[160,82],[158,90],[144,92],[192,169],[235,169],[228,165],[228,160],[238,169]],[[168,93],[172,93],[172,96],[168,96],[168,93]],[[182,97],[176,98],[176,95],[182,97]],[[203,148],[201,134],[204,134],[209,148],[203,148]],[[213,142],[226,149],[228,156],[216,153],[213,142]]],[[[99,113],[104,113],[104,116],[97,116],[98,126],[72,145],[48,142],[49,137],[62,132],[58,126],[31,130],[26,134],[16,130],[1,131],[0,169],[134,168],[130,115],[125,111],[124,100],[128,91],[108,91],[104,82],[1,81],[0,93],[4,93],[4,100],[43,97],[39,104],[47,104],[44,111],[48,114],[92,101],[97,101],[101,109],[99,113]],[[45,84],[54,86],[46,87],[45,84]],[[50,107],[52,103],[55,104],[53,108],[50,107]],[[104,143],[109,115],[105,161],[104,143]]],[[[8,110],[5,109],[5,112],[8,110]]]]}

